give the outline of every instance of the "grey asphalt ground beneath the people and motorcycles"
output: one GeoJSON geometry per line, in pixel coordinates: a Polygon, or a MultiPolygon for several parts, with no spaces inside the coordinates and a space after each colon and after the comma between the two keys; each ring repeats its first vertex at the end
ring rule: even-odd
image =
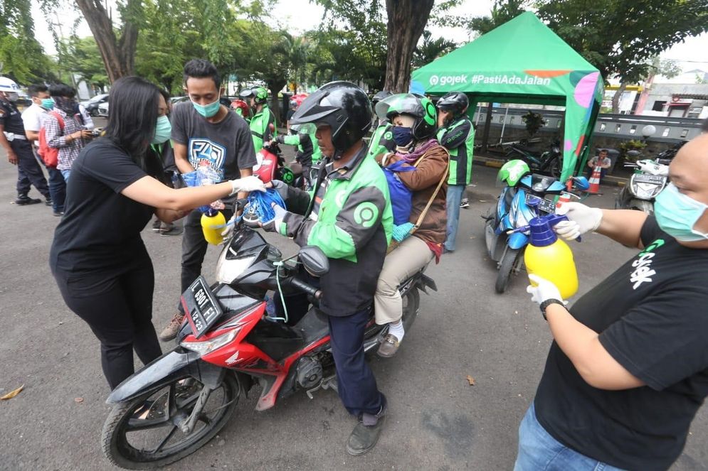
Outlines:
{"type": "MultiPolygon", "coordinates": [[[[354,418],[332,391],[315,399],[297,394],[255,412],[260,390],[242,400],[218,438],[170,470],[510,470],[517,427],[534,396],[551,335],[525,292],[524,276],[504,295],[494,292],[482,218],[494,204],[496,170],[475,166],[470,208],[462,211],[458,250],[428,274],[438,293],[422,296],[421,315],[396,357],[374,358],[390,415],[379,444],[352,458],[344,450],[354,418]],[[475,386],[467,382],[475,379],[475,386]]],[[[109,411],[99,345],[65,307],[48,269],[58,218],[44,205],[16,207],[16,170],[0,151],[0,401],[1,470],[110,470],[100,431],[109,411]]],[[[616,188],[591,204],[611,207],[616,188]]],[[[37,196],[35,191],[32,196],[37,196]]],[[[179,237],[144,240],[155,267],[154,323],[158,330],[179,296],[179,237]]],[[[287,239],[268,239],[294,253],[287,239]]],[[[598,235],[572,246],[581,293],[620,266],[633,251],[598,235]]],[[[204,274],[213,279],[218,249],[208,251],[204,274]]],[[[168,345],[164,345],[167,350],[168,345]]],[[[136,359],[136,364],[139,364],[136,359]]],[[[693,423],[674,470],[708,470],[708,410],[693,423]]]]}

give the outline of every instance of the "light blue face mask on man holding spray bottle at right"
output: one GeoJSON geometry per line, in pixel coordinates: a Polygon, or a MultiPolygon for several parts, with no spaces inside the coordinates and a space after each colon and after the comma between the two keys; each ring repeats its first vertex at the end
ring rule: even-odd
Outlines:
{"type": "Polygon", "coordinates": [[[666,185],[654,201],[657,224],[662,231],[681,242],[708,239],[708,234],[693,229],[706,210],[708,205],[684,195],[673,183],[666,185]]]}

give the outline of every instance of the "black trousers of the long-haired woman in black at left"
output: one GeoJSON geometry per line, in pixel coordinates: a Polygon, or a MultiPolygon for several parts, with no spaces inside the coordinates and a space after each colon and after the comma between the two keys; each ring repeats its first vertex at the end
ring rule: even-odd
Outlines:
{"type": "Polygon", "coordinates": [[[152,325],[154,272],[147,253],[120,273],[54,270],[61,296],[101,342],[101,366],[111,389],[134,373],[133,349],[144,364],[162,354],[152,325]]]}

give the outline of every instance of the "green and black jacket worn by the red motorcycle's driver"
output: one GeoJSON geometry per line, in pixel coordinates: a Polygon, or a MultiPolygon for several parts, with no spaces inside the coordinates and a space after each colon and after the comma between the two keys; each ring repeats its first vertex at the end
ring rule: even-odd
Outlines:
{"type": "Polygon", "coordinates": [[[342,168],[325,162],[318,188],[287,188],[289,212],[275,229],[301,247],[322,249],[329,272],[319,278],[324,293],[320,309],[327,315],[352,315],[373,302],[391,242],[389,186],[376,161],[366,158],[366,147],[342,168]],[[304,207],[302,215],[293,212],[304,207]]]}

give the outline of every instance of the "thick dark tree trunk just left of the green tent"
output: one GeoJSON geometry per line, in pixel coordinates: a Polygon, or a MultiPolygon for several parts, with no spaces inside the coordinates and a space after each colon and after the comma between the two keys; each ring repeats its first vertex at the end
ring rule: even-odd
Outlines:
{"type": "Polygon", "coordinates": [[[384,90],[405,93],[411,85],[413,49],[426,28],[434,0],[386,0],[388,55],[384,90]]]}

